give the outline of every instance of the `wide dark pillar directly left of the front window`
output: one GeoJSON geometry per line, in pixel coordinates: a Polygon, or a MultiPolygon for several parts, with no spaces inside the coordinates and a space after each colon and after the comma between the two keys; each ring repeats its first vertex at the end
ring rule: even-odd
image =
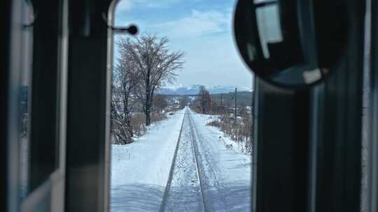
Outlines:
{"type": "Polygon", "coordinates": [[[69,0],[66,211],[109,211],[111,48],[117,1],[69,0]]]}

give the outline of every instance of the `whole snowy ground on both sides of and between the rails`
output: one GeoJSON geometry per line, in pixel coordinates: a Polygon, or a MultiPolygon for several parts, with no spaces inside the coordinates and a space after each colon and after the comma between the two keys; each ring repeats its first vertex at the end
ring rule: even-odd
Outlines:
{"type": "MultiPolygon", "coordinates": [[[[159,211],[183,116],[184,110],[155,123],[134,143],[112,146],[111,211],[159,211]]],[[[166,211],[203,210],[192,135],[209,211],[251,211],[251,157],[206,125],[211,116],[190,112],[187,117],[166,211]],[[229,144],[232,149],[226,148],[229,144]]]]}

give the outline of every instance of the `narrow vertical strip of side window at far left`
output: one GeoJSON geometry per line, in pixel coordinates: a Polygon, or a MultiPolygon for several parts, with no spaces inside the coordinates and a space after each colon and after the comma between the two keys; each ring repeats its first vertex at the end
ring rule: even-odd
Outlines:
{"type": "Polygon", "coordinates": [[[20,93],[20,139],[19,139],[19,161],[20,161],[20,198],[23,199],[28,193],[29,184],[29,130],[31,123],[31,70],[32,70],[32,51],[33,51],[33,28],[31,23],[34,21],[34,13],[31,4],[23,1],[23,25],[22,34],[22,74],[21,74],[21,93],[20,93]]]}

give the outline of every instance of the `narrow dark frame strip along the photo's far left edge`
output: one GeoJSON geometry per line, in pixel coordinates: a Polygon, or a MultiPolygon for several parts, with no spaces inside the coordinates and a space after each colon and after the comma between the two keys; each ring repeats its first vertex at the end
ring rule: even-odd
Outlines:
{"type": "Polygon", "coordinates": [[[1,204],[0,211],[18,211],[18,97],[22,59],[22,1],[1,1],[1,204]]]}

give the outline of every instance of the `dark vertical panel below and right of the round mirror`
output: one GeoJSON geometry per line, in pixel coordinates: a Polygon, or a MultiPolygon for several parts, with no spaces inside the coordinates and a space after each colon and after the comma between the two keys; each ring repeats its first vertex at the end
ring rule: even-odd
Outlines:
{"type": "Polygon", "coordinates": [[[316,169],[312,211],[359,211],[363,120],[363,72],[366,1],[347,1],[345,55],[325,83],[312,132],[316,169]],[[316,127],[316,128],[314,128],[316,127]]]}

